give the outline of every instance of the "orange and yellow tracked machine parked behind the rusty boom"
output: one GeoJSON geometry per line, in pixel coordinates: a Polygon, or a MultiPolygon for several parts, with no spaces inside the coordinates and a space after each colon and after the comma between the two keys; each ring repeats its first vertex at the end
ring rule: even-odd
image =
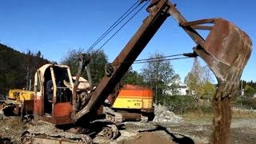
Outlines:
{"type": "Polygon", "coordinates": [[[154,118],[153,90],[149,88],[126,84],[108,100],[112,108],[105,114],[111,122],[147,122],[154,118]]]}

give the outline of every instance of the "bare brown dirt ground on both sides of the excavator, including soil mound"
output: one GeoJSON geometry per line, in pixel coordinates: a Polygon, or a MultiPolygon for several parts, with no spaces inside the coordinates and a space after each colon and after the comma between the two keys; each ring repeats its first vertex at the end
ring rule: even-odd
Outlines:
{"type": "MultiPolygon", "coordinates": [[[[22,122],[18,117],[0,120],[0,143],[20,143],[22,131],[33,122],[22,122]]],[[[124,122],[120,124],[121,135],[114,139],[94,138],[94,143],[110,144],[172,144],[208,143],[213,130],[211,118],[182,118],[182,122],[124,122]]],[[[256,118],[233,118],[230,143],[256,143],[256,118]]]]}

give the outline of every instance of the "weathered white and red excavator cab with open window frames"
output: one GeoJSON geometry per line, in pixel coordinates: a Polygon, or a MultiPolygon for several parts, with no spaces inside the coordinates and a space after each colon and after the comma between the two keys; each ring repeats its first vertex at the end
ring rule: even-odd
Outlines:
{"type": "Polygon", "coordinates": [[[34,78],[34,117],[56,125],[72,123],[74,84],[69,66],[46,64],[34,78]]]}

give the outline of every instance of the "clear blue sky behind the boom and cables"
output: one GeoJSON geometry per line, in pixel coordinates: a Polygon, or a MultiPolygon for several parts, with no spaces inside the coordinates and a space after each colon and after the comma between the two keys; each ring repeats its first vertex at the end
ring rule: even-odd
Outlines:
{"type": "MultiPolygon", "coordinates": [[[[15,50],[26,52],[40,50],[51,61],[60,62],[69,50],[87,50],[137,0],[8,0],[0,1],[0,42],[15,50]]],[[[256,2],[245,0],[175,0],[178,10],[188,21],[201,18],[226,18],[256,40],[254,17],[256,2]]],[[[110,42],[103,47],[109,61],[138,30],[147,12],[143,9],[110,42]]],[[[102,46],[103,40],[98,46],[102,46]]],[[[148,58],[159,52],[165,55],[191,52],[194,42],[178,26],[173,18],[168,18],[154,38],[138,57],[148,58]]],[[[253,46],[254,48],[254,46],[253,46]]],[[[246,81],[256,81],[255,50],[242,74],[246,81]]],[[[193,59],[171,61],[174,70],[182,80],[191,70],[193,59]]],[[[203,62],[202,62],[203,64],[203,62]]],[[[140,70],[143,65],[134,65],[140,70]]]]}

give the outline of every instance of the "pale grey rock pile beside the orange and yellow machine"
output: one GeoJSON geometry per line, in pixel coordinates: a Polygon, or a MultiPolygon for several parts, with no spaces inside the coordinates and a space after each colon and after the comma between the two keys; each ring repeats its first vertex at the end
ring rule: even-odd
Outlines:
{"type": "Polygon", "coordinates": [[[182,122],[182,118],[175,115],[172,111],[167,110],[166,106],[154,104],[154,120],[153,122],[182,122]]]}

